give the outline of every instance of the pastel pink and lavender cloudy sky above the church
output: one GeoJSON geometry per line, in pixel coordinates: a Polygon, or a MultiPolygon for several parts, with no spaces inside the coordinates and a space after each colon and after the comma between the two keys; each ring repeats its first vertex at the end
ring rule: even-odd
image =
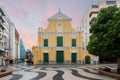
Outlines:
{"type": "Polygon", "coordinates": [[[61,11],[72,18],[72,26],[80,25],[91,4],[100,0],[0,0],[15,24],[26,49],[37,46],[38,27],[47,27],[47,19],[61,11]]]}

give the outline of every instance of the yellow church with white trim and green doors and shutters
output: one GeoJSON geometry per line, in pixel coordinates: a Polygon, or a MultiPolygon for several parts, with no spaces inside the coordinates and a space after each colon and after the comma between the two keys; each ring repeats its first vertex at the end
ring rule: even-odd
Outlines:
{"type": "Polygon", "coordinates": [[[33,47],[34,64],[92,64],[93,55],[81,49],[80,30],[60,10],[48,19],[48,27],[38,30],[38,46],[33,47]]]}

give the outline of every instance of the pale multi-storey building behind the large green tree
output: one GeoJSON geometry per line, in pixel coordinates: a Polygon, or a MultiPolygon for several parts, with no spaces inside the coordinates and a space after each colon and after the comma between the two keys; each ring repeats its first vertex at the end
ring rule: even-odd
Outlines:
{"type": "MultiPolygon", "coordinates": [[[[93,20],[97,17],[97,14],[102,8],[106,8],[109,6],[114,6],[116,5],[117,7],[120,7],[120,1],[118,0],[107,0],[107,1],[100,1],[99,3],[94,3],[90,6],[90,9],[88,13],[83,17],[81,23],[80,23],[80,29],[81,29],[81,35],[83,37],[82,39],[82,50],[86,53],[88,53],[86,46],[90,40],[90,35],[91,35],[91,29],[90,25],[93,22],[93,20]]],[[[98,57],[94,56],[94,62],[113,62],[114,58],[112,56],[107,56],[105,57],[98,57]]],[[[117,60],[116,60],[117,61],[117,60]]]]}

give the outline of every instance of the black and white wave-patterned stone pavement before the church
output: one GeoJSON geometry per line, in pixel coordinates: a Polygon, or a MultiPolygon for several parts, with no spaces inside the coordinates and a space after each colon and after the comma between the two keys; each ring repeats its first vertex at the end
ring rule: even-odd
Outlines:
{"type": "Polygon", "coordinates": [[[90,67],[46,68],[46,67],[14,67],[12,75],[0,80],[115,80],[99,75],[97,69],[90,67]]]}

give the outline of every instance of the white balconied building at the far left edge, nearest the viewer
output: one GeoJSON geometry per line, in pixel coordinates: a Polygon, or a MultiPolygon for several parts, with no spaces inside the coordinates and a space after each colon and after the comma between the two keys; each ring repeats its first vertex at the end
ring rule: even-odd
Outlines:
{"type": "Polygon", "coordinates": [[[9,55],[9,24],[7,15],[0,6],[0,65],[3,65],[4,57],[9,55]]]}

